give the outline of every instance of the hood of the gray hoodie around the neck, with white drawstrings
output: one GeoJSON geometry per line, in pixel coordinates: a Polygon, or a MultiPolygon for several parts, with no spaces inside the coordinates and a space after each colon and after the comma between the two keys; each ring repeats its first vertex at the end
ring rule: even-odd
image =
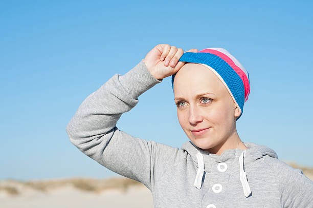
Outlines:
{"type": "MultiPolygon", "coordinates": [[[[265,145],[259,145],[252,142],[243,142],[243,144],[248,149],[229,149],[224,151],[221,155],[217,155],[203,151],[196,147],[191,141],[186,141],[181,149],[191,156],[195,168],[197,169],[194,181],[195,188],[201,188],[205,170],[210,171],[216,163],[227,162],[230,165],[239,167],[239,179],[242,184],[243,193],[245,197],[248,197],[251,194],[251,190],[247,180],[247,174],[244,172],[244,165],[253,163],[266,155],[277,159],[278,156],[273,149],[266,147],[265,145]]],[[[223,164],[226,165],[226,163],[223,164]]]]}

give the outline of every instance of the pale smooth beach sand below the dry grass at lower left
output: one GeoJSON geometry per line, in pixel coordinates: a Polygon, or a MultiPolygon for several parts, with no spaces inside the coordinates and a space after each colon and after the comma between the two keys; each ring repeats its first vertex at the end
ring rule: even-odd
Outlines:
{"type": "Polygon", "coordinates": [[[4,186],[15,187],[19,193],[1,190],[1,208],[153,207],[151,192],[144,185],[129,185],[127,190],[107,189],[99,193],[80,190],[72,184],[49,188],[47,191],[36,190],[14,181],[2,181],[2,187],[4,186]]]}

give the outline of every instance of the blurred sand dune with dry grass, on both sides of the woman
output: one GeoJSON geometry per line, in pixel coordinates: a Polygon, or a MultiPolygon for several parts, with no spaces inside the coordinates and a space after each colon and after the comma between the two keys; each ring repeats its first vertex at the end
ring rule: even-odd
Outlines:
{"type": "MultiPolygon", "coordinates": [[[[313,169],[299,168],[313,180],[313,169]]],[[[0,180],[1,208],[50,207],[153,207],[151,192],[141,183],[124,178],[70,178],[49,180],[0,180]]]]}

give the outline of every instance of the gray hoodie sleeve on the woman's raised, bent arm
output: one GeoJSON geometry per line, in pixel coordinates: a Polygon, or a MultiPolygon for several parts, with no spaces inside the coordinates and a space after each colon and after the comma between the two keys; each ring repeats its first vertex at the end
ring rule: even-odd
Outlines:
{"type": "MultiPolygon", "coordinates": [[[[142,182],[151,190],[155,157],[164,158],[175,148],[131,136],[116,127],[122,113],[138,103],[138,97],[162,82],[142,59],[126,74],[115,74],[79,106],[68,125],[70,141],[84,154],[120,175],[142,182]]],[[[160,162],[162,163],[162,162],[160,162]]]]}

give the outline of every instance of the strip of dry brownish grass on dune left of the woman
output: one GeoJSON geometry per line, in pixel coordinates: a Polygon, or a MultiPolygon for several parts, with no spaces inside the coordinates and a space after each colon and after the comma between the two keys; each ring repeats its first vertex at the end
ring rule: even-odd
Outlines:
{"type": "Polygon", "coordinates": [[[128,178],[109,178],[109,179],[87,179],[87,178],[72,178],[72,179],[52,179],[52,180],[4,180],[0,181],[0,191],[5,191],[10,195],[18,195],[25,189],[32,189],[41,192],[61,188],[62,186],[72,185],[73,187],[94,193],[101,193],[106,190],[119,190],[126,192],[132,185],[141,185],[138,181],[128,178]]]}

